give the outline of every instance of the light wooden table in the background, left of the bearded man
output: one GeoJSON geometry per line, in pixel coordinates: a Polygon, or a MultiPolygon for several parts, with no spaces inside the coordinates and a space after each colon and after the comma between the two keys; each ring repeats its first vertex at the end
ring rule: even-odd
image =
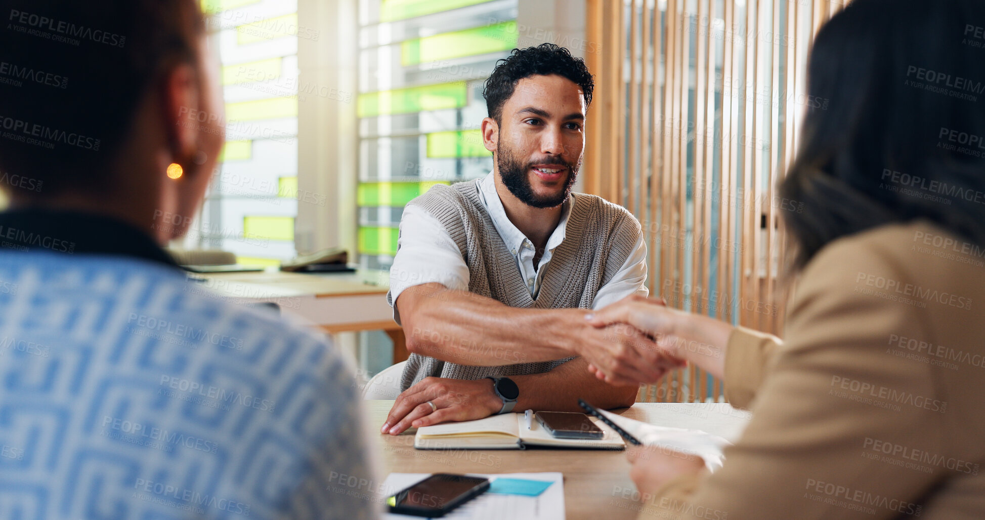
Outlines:
{"type": "Polygon", "coordinates": [[[386,303],[387,271],[312,274],[271,269],[193,276],[232,302],[276,303],[281,312],[326,333],[382,330],[393,339],[393,362],[407,359],[404,331],[393,321],[393,310],[386,303]]]}

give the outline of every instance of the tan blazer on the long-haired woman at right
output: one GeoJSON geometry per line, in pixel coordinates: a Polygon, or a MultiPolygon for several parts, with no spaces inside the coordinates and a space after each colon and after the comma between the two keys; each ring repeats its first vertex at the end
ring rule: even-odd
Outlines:
{"type": "Polygon", "coordinates": [[[640,518],[985,518],[985,247],[923,221],[832,242],[785,337],[731,335],[749,427],[640,518]]]}

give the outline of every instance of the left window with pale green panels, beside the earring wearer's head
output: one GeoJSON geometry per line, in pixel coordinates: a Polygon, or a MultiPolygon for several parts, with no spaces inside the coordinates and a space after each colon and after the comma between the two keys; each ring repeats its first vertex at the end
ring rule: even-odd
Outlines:
{"type": "Polygon", "coordinates": [[[295,256],[297,214],[296,2],[203,0],[218,43],[226,146],[185,246],[222,249],[240,263],[295,256]]]}

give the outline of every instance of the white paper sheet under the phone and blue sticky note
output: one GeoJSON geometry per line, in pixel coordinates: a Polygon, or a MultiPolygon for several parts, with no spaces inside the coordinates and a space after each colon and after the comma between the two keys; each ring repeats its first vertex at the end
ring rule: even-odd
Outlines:
{"type": "MultiPolygon", "coordinates": [[[[538,496],[519,494],[494,494],[485,492],[457,509],[442,516],[447,520],[564,520],[564,477],[559,473],[503,473],[468,474],[470,477],[485,477],[491,481],[496,478],[529,479],[531,481],[553,481],[550,487],[538,496]]],[[[384,489],[394,492],[419,483],[430,474],[391,473],[383,481],[384,489]]],[[[387,520],[421,520],[420,516],[387,513],[387,520]]]]}

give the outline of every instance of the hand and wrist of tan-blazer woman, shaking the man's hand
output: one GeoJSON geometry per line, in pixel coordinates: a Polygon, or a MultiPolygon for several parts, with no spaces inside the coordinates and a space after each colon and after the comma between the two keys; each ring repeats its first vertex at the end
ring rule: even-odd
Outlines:
{"type": "MultiPolygon", "coordinates": [[[[600,309],[588,323],[599,328],[626,324],[652,337],[667,356],[694,363],[719,379],[725,374],[725,349],[735,329],[713,318],[670,309],[663,299],[643,296],[627,296],[600,309]]],[[[589,370],[600,379],[610,376],[605,367],[593,365],[589,370]]]]}

